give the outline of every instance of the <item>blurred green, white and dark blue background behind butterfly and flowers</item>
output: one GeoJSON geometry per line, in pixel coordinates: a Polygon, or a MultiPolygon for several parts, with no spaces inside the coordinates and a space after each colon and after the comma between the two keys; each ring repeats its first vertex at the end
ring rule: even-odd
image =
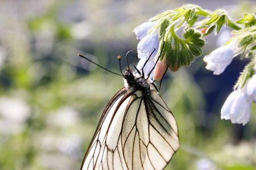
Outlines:
{"type": "MultiPolygon", "coordinates": [[[[223,7],[235,19],[256,12],[252,1],[231,0],[0,1],[0,169],[79,169],[123,80],[77,53],[119,73],[116,57],[139,42],[134,27],[188,2],[223,7]]],[[[217,47],[217,37],[206,38],[203,56],[217,47]]],[[[222,104],[248,61],[237,57],[216,76],[202,58],[168,71],[161,87],[181,142],[166,169],[256,169],[256,104],[245,126],[220,120],[222,104]]]]}

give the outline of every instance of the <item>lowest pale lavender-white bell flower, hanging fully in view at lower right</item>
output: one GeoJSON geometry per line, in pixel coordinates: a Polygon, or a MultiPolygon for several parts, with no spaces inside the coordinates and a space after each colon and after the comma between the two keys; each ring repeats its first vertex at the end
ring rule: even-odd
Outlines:
{"type": "Polygon", "coordinates": [[[235,90],[221,108],[221,119],[231,120],[232,124],[247,124],[251,116],[251,101],[242,90],[235,90]]]}

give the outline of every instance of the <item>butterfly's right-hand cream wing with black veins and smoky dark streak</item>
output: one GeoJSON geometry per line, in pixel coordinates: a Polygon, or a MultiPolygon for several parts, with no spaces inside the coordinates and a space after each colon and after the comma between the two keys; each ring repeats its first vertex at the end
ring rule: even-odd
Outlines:
{"type": "Polygon", "coordinates": [[[180,147],[175,118],[155,90],[131,97],[121,143],[128,169],[163,169],[180,147]]]}

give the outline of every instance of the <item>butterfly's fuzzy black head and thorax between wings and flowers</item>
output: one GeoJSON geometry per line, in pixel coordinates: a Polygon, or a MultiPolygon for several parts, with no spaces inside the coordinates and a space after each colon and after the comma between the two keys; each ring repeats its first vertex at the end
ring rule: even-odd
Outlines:
{"type": "Polygon", "coordinates": [[[148,79],[146,75],[142,76],[142,74],[126,70],[125,74],[123,74],[123,78],[125,79],[125,87],[127,90],[134,88],[142,92],[150,92],[150,84],[153,82],[151,79],[148,79]]]}

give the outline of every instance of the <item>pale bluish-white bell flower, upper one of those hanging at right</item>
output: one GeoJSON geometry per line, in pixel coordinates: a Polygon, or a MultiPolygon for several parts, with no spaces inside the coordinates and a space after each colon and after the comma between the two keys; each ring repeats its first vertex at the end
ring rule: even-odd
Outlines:
{"type": "Polygon", "coordinates": [[[207,62],[205,68],[213,71],[213,74],[216,75],[223,73],[239,50],[240,48],[237,47],[236,41],[232,41],[228,45],[213,50],[212,53],[204,57],[204,61],[207,62]]]}

